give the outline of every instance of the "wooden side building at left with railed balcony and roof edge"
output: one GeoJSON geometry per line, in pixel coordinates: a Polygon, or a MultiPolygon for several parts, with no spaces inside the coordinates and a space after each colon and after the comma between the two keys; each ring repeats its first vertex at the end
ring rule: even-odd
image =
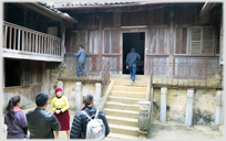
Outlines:
{"type": "Polygon", "coordinates": [[[20,95],[22,106],[48,91],[45,69],[64,59],[65,26],[78,21],[43,3],[3,3],[3,96],[20,95]]]}

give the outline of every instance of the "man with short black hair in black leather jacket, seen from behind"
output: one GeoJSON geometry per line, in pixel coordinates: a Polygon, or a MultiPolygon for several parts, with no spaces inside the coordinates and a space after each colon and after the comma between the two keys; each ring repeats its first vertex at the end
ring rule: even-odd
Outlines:
{"type": "Polygon", "coordinates": [[[48,99],[48,94],[37,94],[37,108],[25,113],[30,139],[54,139],[53,131],[61,129],[61,124],[55,116],[45,111],[48,99]]]}

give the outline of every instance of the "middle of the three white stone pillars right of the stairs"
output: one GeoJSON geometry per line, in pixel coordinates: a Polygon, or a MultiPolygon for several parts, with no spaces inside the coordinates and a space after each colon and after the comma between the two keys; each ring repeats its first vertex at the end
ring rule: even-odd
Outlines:
{"type": "Polygon", "coordinates": [[[185,124],[187,127],[193,124],[193,101],[194,101],[194,89],[187,89],[187,105],[186,105],[186,117],[185,117],[185,124]]]}

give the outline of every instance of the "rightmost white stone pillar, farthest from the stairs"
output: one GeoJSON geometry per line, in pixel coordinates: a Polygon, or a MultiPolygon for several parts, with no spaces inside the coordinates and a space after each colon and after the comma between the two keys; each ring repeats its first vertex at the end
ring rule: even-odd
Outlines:
{"type": "Polygon", "coordinates": [[[217,90],[216,93],[216,112],[215,112],[215,123],[223,124],[224,121],[224,111],[223,111],[223,91],[217,90]]]}

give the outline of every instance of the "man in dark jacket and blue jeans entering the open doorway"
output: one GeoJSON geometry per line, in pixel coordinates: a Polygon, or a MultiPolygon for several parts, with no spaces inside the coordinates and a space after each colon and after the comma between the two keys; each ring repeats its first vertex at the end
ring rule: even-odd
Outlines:
{"type": "Polygon", "coordinates": [[[141,56],[138,53],[135,53],[135,48],[131,48],[131,53],[127,54],[126,57],[126,69],[130,68],[130,74],[131,74],[131,80],[134,83],[135,80],[135,75],[136,75],[136,64],[141,59],[141,56]]]}

